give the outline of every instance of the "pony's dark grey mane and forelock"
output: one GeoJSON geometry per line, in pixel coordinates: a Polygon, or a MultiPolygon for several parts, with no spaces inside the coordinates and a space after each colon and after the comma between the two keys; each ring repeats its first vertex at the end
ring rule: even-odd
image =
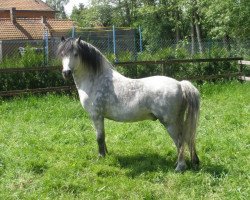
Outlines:
{"type": "Polygon", "coordinates": [[[84,66],[94,73],[102,69],[102,53],[91,44],[81,40],[81,38],[63,40],[58,47],[57,54],[63,57],[72,52],[74,55],[79,55],[81,61],[85,64],[84,66]]]}

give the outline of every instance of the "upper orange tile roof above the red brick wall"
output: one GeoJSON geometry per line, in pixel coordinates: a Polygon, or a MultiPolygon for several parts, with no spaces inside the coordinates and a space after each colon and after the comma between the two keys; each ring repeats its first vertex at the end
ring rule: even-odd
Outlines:
{"type": "Polygon", "coordinates": [[[41,0],[0,0],[0,10],[9,10],[12,7],[17,10],[54,11],[41,0]]]}

